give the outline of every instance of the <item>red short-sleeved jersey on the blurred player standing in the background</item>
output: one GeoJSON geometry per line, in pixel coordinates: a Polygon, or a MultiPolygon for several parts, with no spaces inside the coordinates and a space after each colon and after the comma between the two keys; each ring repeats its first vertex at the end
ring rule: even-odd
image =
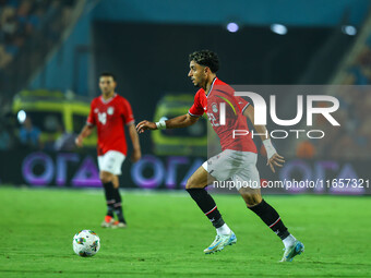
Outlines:
{"type": "Polygon", "coordinates": [[[127,155],[124,124],[134,123],[134,116],[129,101],[117,94],[105,100],[101,96],[92,100],[87,124],[97,126],[98,156],[108,150],[127,155]]]}

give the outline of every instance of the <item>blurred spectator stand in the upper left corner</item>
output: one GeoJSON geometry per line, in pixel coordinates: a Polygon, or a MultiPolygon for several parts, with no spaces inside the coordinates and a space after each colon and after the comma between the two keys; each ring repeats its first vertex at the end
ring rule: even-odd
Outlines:
{"type": "Polygon", "coordinates": [[[0,0],[0,89],[16,90],[59,41],[75,0],[0,0]]]}

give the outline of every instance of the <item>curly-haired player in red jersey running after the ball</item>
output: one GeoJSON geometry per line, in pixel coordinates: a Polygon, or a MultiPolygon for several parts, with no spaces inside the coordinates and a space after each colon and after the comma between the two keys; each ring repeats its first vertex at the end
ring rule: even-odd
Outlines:
{"type": "MultiPolygon", "coordinates": [[[[253,107],[240,97],[234,96],[234,89],[217,78],[219,68],[218,57],[210,50],[196,51],[190,55],[190,72],[194,86],[201,87],[195,94],[194,104],[187,114],[177,118],[149,122],[142,121],[136,125],[139,133],[145,130],[185,128],[194,124],[206,112],[207,118],[218,135],[222,153],[205,161],[188,180],[185,190],[199,205],[201,210],[216,228],[214,242],[204,250],[205,254],[222,251],[225,246],[237,242],[235,233],[224,221],[213,197],[205,188],[213,181],[231,179],[237,185],[238,181],[248,182],[248,186],[237,186],[247,206],[255,213],[284,242],[285,253],[282,262],[291,262],[303,252],[303,244],[290,234],[282,221],[278,213],[261,196],[260,177],[256,169],[256,147],[248,136],[234,136],[236,130],[248,130],[246,118],[253,119],[253,107]],[[220,119],[222,107],[225,107],[226,117],[220,119]],[[243,113],[243,114],[242,114],[243,113]],[[224,121],[224,122],[222,122],[224,121]]],[[[265,126],[255,126],[258,132],[266,131],[265,126]]],[[[284,158],[277,154],[271,140],[265,138],[263,144],[267,152],[267,165],[282,167],[284,158]]],[[[242,184],[242,183],[240,183],[242,184]]]]}

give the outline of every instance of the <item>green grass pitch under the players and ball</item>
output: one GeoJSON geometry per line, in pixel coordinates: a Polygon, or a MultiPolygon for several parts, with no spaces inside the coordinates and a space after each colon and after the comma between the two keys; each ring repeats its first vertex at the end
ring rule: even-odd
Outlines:
{"type": "Polygon", "coordinates": [[[216,203],[238,242],[204,255],[215,231],[185,193],[125,192],[129,228],[99,227],[101,191],[0,188],[0,277],[371,277],[371,198],[266,196],[306,244],[278,263],[280,240],[237,195],[216,203]],[[94,257],[79,257],[72,238],[98,233],[94,257]]]}

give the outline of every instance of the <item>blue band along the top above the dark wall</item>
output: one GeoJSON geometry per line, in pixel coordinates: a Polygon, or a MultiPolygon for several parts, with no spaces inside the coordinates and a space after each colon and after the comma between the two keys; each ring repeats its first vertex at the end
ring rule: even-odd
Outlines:
{"type": "MultiPolygon", "coordinates": [[[[91,0],[97,3],[96,0],[91,0]]],[[[100,0],[95,20],[179,24],[359,26],[369,0],[100,0]]]]}

